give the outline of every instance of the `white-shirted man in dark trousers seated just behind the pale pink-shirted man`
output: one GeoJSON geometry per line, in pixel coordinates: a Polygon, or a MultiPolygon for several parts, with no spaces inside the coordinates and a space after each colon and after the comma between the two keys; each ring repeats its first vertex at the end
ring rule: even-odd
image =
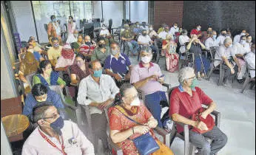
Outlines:
{"type": "Polygon", "coordinates": [[[155,46],[153,45],[153,41],[151,40],[149,35],[146,35],[146,30],[142,30],[142,35],[138,37],[138,44],[142,46],[149,46],[154,52],[153,61],[156,61],[158,48],[155,48],[155,46]]]}

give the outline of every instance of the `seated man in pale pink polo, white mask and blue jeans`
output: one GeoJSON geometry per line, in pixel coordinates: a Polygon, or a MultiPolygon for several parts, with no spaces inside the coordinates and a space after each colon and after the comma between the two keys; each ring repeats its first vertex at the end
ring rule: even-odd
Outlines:
{"type": "Polygon", "coordinates": [[[164,77],[157,63],[150,62],[152,59],[152,49],[150,47],[141,48],[141,62],[132,67],[131,80],[136,89],[140,89],[145,95],[145,105],[158,120],[158,126],[163,128],[161,123],[161,100],[167,100],[163,92],[161,83],[164,77]]]}

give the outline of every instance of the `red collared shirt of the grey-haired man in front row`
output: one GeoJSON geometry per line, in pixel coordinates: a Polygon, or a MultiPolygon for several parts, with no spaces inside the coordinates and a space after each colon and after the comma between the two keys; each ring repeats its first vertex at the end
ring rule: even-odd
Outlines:
{"type": "MultiPolygon", "coordinates": [[[[209,106],[210,103],[212,103],[212,99],[204,94],[200,88],[195,87],[195,89],[192,89],[192,97],[190,97],[187,92],[183,91],[181,85],[172,91],[169,100],[169,116],[172,116],[172,114],[180,114],[188,119],[202,107],[202,104],[209,106]]],[[[177,131],[181,133],[183,127],[177,124],[177,131]]]]}

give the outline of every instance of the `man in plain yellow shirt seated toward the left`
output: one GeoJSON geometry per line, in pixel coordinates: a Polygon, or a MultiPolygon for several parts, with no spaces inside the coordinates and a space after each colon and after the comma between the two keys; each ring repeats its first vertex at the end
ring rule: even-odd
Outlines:
{"type": "Polygon", "coordinates": [[[48,49],[47,53],[48,53],[48,58],[52,64],[52,66],[55,67],[58,58],[61,56],[62,46],[59,45],[58,38],[53,38],[52,43],[53,43],[53,47],[50,47],[50,49],[48,49]]]}

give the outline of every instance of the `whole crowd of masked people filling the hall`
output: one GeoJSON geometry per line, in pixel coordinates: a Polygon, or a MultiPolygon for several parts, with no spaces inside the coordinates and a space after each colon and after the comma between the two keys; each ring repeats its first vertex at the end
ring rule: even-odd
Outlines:
{"type": "MultiPolygon", "coordinates": [[[[112,142],[118,144],[123,154],[138,154],[132,140],[146,133],[159,146],[158,151],[152,154],[175,154],[152,131],[157,126],[165,128],[161,103],[168,102],[162,88],[164,75],[155,58],[160,51],[154,43],[161,44],[160,54],[166,57],[166,70],[179,70],[180,85],[169,98],[169,118],[205,131],[202,134],[189,130],[189,140],[201,154],[215,154],[226,145],[228,138],[220,128],[209,128],[203,121],[192,120],[192,114],[197,113],[202,104],[208,106],[201,113],[203,119],[216,108],[215,101],[197,86],[197,80],[205,77],[210,67],[209,58],[203,55],[203,51],[218,47],[215,52],[217,60],[213,65],[217,67],[223,61],[224,83],[230,75],[238,75],[238,82],[243,82],[246,63],[255,69],[255,44],[246,30],[232,40],[226,30],[220,30],[218,36],[213,27],[201,32],[200,24],[189,35],[188,30],[178,27],[178,23],[172,24],[171,28],[162,24],[157,32],[152,24],[147,26],[145,22],[141,26],[138,22],[134,25],[124,24],[120,39],[132,52],[125,55],[105,25],[96,43],[89,35],[78,34],[70,16],[68,37],[64,43],[55,15],[50,19],[47,34],[51,47],[44,51],[35,38],[30,37],[18,72],[26,94],[23,114],[36,124],[24,142],[22,154],[94,154],[97,149],[92,145],[95,142],[87,140],[78,125],[68,120],[59,94],[50,89],[55,85],[61,89],[77,86],[78,89],[70,94],[73,94],[78,105],[90,107],[92,132],[95,140],[101,139],[106,154],[110,152],[107,125],[112,142]],[[194,55],[195,69],[189,66],[179,69],[179,61],[188,51],[194,55]],[[139,55],[141,61],[132,64],[129,60],[132,55],[139,55]],[[30,88],[30,81],[25,77],[35,72],[31,83],[33,87],[30,88]],[[68,73],[70,81],[64,78],[65,73],[68,73]],[[144,103],[139,100],[138,91],[144,95],[144,103]],[[117,97],[120,100],[115,102],[117,97]],[[104,108],[109,106],[105,114],[104,108]],[[212,139],[212,143],[204,137],[212,139]]],[[[249,73],[255,77],[255,70],[249,73]]],[[[177,125],[177,131],[183,134],[180,125],[177,125]]]]}

